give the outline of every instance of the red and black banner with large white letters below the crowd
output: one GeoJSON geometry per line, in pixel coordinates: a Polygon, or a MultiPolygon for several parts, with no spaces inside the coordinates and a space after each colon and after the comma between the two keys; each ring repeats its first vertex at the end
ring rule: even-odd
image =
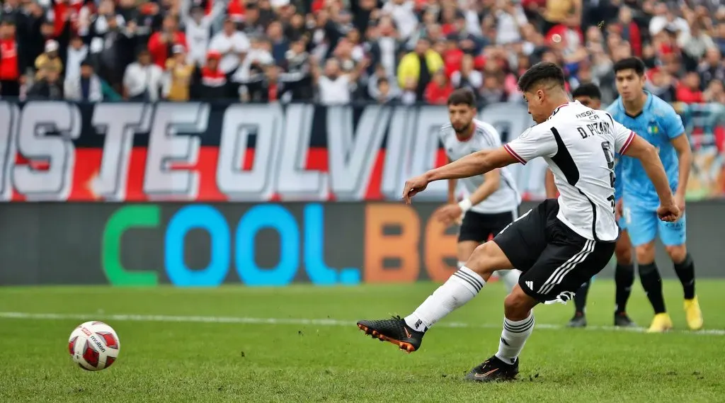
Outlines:
{"type": "MultiPolygon", "coordinates": [[[[725,107],[676,105],[695,152],[690,199],[725,197],[725,107]]],[[[493,104],[509,141],[533,122],[493,104]]],[[[2,201],[376,201],[444,164],[441,106],[0,102],[2,201]]],[[[546,165],[512,167],[527,200],[546,165]]],[[[432,183],[419,199],[442,200],[432,183]]]]}

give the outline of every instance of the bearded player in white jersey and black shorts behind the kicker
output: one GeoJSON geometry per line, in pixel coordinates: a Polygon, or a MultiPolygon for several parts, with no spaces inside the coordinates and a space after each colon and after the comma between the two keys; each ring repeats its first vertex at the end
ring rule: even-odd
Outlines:
{"type": "MultiPolygon", "coordinates": [[[[468,88],[453,91],[448,97],[450,123],[443,125],[439,133],[448,162],[456,161],[468,154],[501,146],[498,131],[476,117],[476,96],[468,88]]],[[[476,246],[500,233],[506,225],[518,218],[521,195],[515,187],[508,168],[491,170],[485,175],[460,179],[465,198],[456,201],[458,180],[448,180],[448,204],[434,212],[433,217],[447,225],[457,223],[463,217],[458,233],[458,268],[463,267],[476,246]]],[[[518,283],[518,270],[499,270],[501,278],[510,292],[518,283]]]]}

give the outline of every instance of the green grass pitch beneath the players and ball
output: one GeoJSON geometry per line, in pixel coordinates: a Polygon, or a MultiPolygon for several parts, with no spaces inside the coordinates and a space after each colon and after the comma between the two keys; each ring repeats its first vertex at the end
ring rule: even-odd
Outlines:
{"type": "MultiPolygon", "coordinates": [[[[462,377],[497,350],[500,283],[413,354],[355,326],[407,315],[435,286],[0,288],[0,402],[725,402],[725,281],[697,283],[701,333],[686,331],[674,281],[665,285],[676,328],[667,334],[608,328],[610,281],[592,286],[587,330],[557,326],[571,303],[539,306],[518,381],[495,384],[462,377]],[[117,362],[97,373],[67,354],[72,329],[91,319],[121,341],[117,362]]],[[[629,306],[649,324],[638,284],[629,306]]]]}

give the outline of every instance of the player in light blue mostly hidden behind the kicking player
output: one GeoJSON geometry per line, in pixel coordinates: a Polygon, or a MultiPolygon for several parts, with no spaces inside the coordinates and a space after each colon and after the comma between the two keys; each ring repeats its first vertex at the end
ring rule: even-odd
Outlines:
{"type": "MultiPolygon", "coordinates": [[[[571,93],[571,97],[574,101],[579,101],[585,107],[602,109],[602,93],[595,84],[582,84],[571,93]]],[[[631,294],[632,284],[634,283],[634,265],[632,265],[632,244],[629,241],[626,223],[621,213],[621,171],[622,165],[618,162],[618,156],[615,155],[614,197],[618,203],[616,218],[621,233],[614,247],[614,257],[617,260],[617,265],[614,269],[614,282],[616,284],[614,293],[614,325],[619,327],[632,327],[636,324],[629,319],[626,313],[626,307],[629,295],[631,294]]],[[[554,183],[554,174],[551,170],[547,170],[546,174],[546,193],[548,199],[555,199],[558,193],[556,184],[554,183]]],[[[568,327],[584,328],[587,326],[587,294],[589,294],[589,286],[591,284],[592,281],[587,281],[576,291],[576,295],[574,295],[574,316],[569,320],[568,327]]]]}

